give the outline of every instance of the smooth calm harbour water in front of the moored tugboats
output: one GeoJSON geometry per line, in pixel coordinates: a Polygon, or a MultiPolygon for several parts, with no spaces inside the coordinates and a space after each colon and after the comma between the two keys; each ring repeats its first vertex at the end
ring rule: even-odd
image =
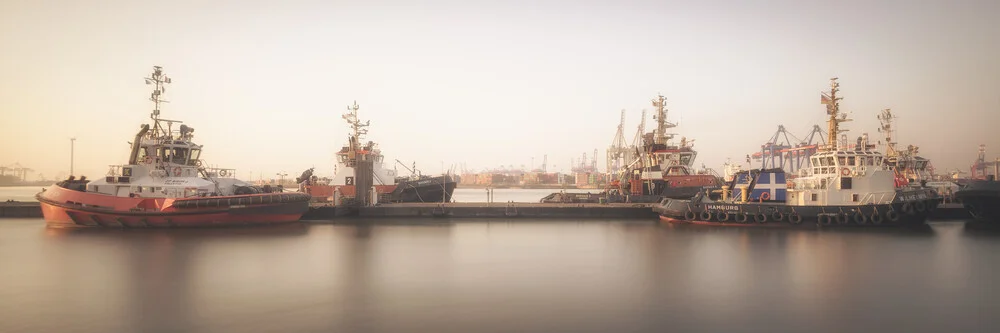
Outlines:
{"type": "MultiPolygon", "coordinates": [[[[0,219],[0,332],[996,332],[1000,234],[0,219]]],[[[420,220],[423,222],[431,220],[420,220]]]]}

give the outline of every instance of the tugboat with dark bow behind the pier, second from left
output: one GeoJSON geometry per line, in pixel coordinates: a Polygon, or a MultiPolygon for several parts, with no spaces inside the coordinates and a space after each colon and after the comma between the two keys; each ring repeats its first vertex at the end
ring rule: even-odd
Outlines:
{"type": "Polygon", "coordinates": [[[452,193],[458,184],[451,175],[422,175],[414,165],[410,176],[399,176],[395,169],[385,167],[385,156],[378,144],[373,141],[362,143],[364,135],[368,133],[370,121],[361,122],[358,118],[359,109],[355,102],[348,106],[348,112],[343,115],[350,127],[350,134],[347,144],[336,153],[333,178],[320,181],[313,175],[315,169],[310,168],[296,178],[299,191],[309,194],[313,201],[318,202],[356,202],[361,199],[357,198],[358,162],[366,161],[371,162],[371,170],[365,172],[371,172],[371,185],[375,194],[375,200],[363,198],[366,202],[451,202],[452,193]]]}

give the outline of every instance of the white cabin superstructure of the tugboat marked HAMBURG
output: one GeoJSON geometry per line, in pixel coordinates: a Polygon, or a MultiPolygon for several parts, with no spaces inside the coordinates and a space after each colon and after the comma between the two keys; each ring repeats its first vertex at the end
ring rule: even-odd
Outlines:
{"type": "Polygon", "coordinates": [[[810,157],[810,167],[793,179],[787,203],[792,206],[880,204],[895,197],[894,175],[872,150],[834,150],[810,157]]]}

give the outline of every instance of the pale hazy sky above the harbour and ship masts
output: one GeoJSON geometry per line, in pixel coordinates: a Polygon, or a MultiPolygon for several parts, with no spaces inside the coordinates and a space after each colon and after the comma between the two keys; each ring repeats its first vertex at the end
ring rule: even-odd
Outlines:
{"type": "MultiPolygon", "coordinates": [[[[331,175],[354,100],[387,159],[425,172],[541,163],[611,143],[627,109],[668,98],[698,164],[742,161],[784,124],[822,124],[841,78],[851,134],[899,141],[939,170],[980,143],[1000,156],[1000,2],[0,2],[0,165],[101,176],[148,120],[142,77],[164,66],[167,119],[210,164],[331,175]]],[[[652,119],[648,120],[652,128],[652,119]]]]}

